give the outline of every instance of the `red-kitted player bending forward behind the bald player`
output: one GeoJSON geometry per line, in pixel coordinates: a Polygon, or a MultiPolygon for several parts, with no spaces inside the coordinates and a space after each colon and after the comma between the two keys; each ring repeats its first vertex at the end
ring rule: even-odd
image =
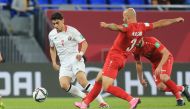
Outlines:
{"type": "Polygon", "coordinates": [[[133,55],[136,60],[136,69],[140,83],[143,86],[147,86],[147,82],[143,78],[143,68],[140,57],[147,58],[152,63],[152,75],[158,89],[164,92],[172,92],[175,95],[178,106],[185,105],[181,92],[190,101],[190,94],[188,92],[188,86],[176,85],[174,81],[170,79],[173,56],[170,51],[155,37],[143,37],[139,44],[137,44],[133,55]]]}

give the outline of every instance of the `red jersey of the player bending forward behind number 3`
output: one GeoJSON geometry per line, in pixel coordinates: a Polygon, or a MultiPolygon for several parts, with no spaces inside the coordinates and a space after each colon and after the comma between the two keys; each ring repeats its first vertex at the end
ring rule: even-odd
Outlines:
{"type": "MultiPolygon", "coordinates": [[[[162,59],[161,51],[165,46],[155,37],[143,37],[142,47],[136,47],[133,52],[135,60],[139,61],[140,56],[146,57],[152,63],[159,63],[162,59]]],[[[172,54],[170,53],[172,56],[172,54]]]]}

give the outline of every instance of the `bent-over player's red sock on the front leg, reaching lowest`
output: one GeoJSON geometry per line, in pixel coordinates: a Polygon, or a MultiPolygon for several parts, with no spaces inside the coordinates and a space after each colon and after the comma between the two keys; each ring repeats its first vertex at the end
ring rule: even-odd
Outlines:
{"type": "Polygon", "coordinates": [[[175,95],[177,100],[182,98],[181,94],[180,94],[180,92],[179,92],[179,90],[177,88],[177,85],[176,85],[176,83],[174,81],[169,79],[168,81],[165,82],[165,84],[169,89],[171,89],[171,92],[173,93],[173,95],[175,95]]]}

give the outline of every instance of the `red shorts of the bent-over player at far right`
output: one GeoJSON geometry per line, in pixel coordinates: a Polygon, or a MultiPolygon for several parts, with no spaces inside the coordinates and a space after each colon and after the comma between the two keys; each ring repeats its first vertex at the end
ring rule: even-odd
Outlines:
{"type": "MultiPolygon", "coordinates": [[[[170,76],[171,72],[172,72],[173,61],[174,61],[173,56],[169,56],[166,63],[162,66],[162,72],[160,74],[167,74],[168,76],[170,76]]],[[[154,73],[158,64],[159,63],[153,63],[153,66],[152,66],[152,73],[153,73],[153,77],[154,77],[154,81],[155,81],[156,85],[158,85],[160,82],[162,82],[160,80],[160,75],[156,76],[154,73]]]]}

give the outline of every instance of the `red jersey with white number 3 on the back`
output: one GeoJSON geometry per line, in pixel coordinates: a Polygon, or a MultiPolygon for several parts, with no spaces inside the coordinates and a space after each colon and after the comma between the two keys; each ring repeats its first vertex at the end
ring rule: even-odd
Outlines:
{"type": "Polygon", "coordinates": [[[124,32],[119,32],[110,52],[124,54],[125,56],[131,53],[145,31],[153,29],[152,23],[130,23],[121,26],[124,32]]]}

